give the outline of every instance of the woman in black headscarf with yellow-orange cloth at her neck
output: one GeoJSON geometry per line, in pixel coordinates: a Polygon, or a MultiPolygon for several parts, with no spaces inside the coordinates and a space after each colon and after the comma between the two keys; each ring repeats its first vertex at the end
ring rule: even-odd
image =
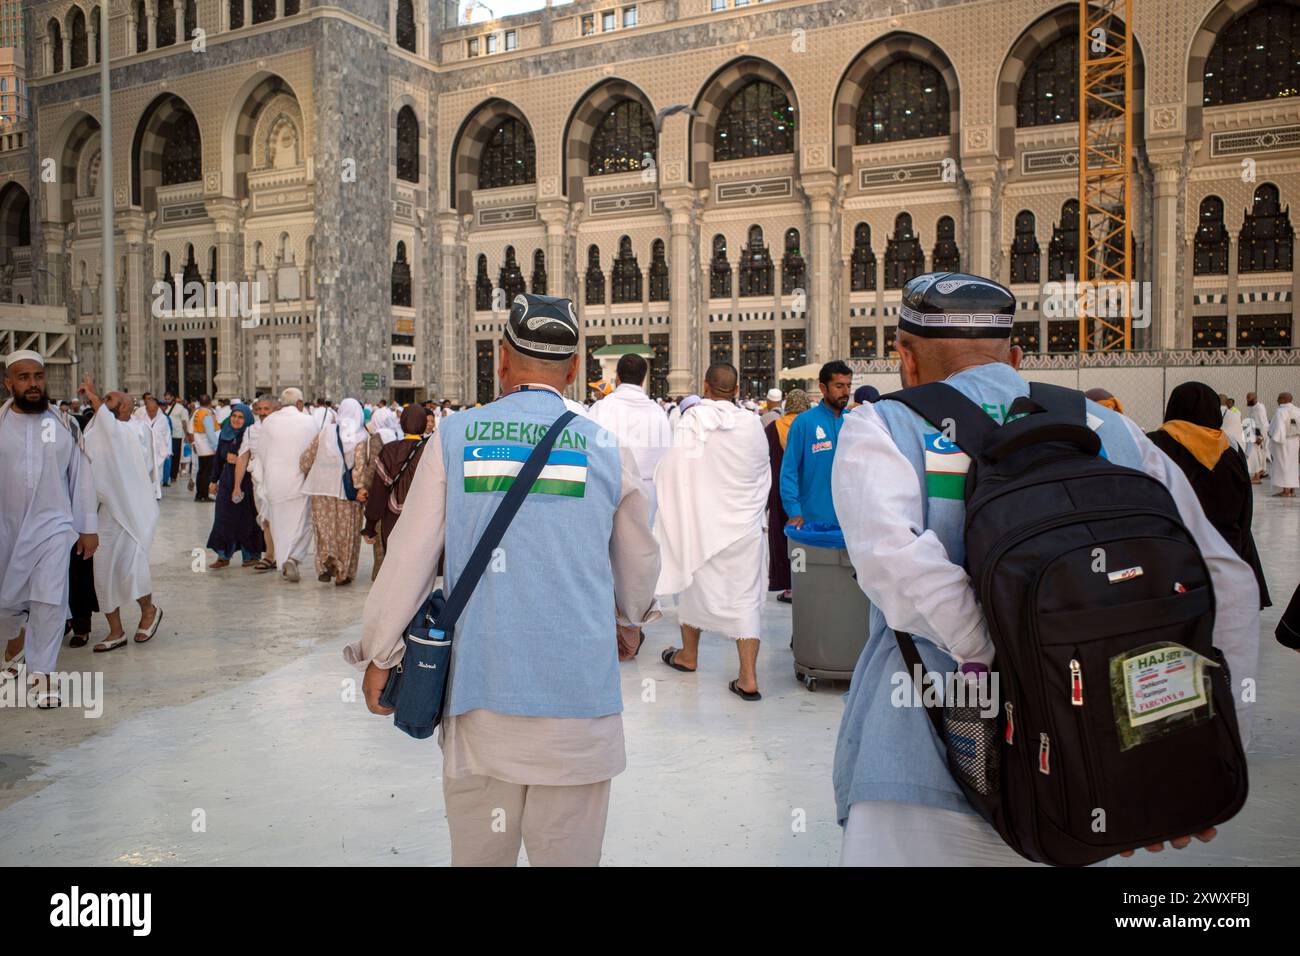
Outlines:
{"type": "Polygon", "coordinates": [[[1187,475],[1201,510],[1232,550],[1254,570],[1260,606],[1269,588],[1251,535],[1254,497],[1245,453],[1221,428],[1219,397],[1202,382],[1183,382],[1169,394],[1165,424],[1147,437],[1187,475]]]}

